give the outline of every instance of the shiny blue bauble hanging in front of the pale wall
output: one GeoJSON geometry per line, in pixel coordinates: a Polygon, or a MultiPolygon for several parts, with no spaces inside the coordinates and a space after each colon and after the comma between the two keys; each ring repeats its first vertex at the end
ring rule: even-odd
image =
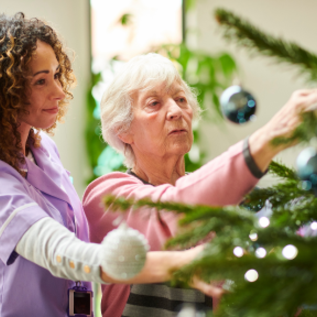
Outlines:
{"type": "Polygon", "coordinates": [[[257,103],[254,97],[240,86],[231,86],[220,97],[221,111],[231,122],[242,124],[253,118],[257,103]]]}

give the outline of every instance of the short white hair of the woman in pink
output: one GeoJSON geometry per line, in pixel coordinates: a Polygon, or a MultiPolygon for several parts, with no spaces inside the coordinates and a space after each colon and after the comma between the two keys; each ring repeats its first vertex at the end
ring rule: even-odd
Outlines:
{"type": "Polygon", "coordinates": [[[128,131],[133,120],[131,95],[164,84],[169,88],[178,82],[185,91],[195,119],[200,118],[196,94],[180,77],[168,58],[155,53],[135,56],[115,76],[100,103],[102,137],[105,142],[125,156],[125,165],[133,167],[135,156],[130,144],[122,142],[118,134],[128,131]]]}

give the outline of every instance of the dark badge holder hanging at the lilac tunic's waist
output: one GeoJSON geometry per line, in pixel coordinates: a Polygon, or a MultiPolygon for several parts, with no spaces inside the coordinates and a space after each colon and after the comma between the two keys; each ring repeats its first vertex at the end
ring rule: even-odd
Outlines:
{"type": "Polygon", "coordinates": [[[83,287],[80,281],[76,281],[75,283],[76,286],[67,290],[67,316],[93,317],[94,292],[83,287]]]}

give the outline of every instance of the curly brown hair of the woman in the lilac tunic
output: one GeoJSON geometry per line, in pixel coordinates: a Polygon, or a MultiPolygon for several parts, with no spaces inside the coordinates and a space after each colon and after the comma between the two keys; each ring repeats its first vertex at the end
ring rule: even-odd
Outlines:
{"type": "MultiPolygon", "coordinates": [[[[59,62],[59,81],[65,93],[60,101],[56,121],[46,129],[52,132],[57,121],[62,121],[69,100],[73,98],[69,89],[75,83],[75,76],[69,57],[63,50],[62,42],[56,32],[45,22],[27,19],[21,12],[12,17],[0,14],[0,160],[6,162],[21,175],[20,165],[25,164],[25,156],[21,144],[20,125],[18,118],[28,115],[27,89],[29,75],[28,63],[37,48],[37,41],[49,44],[59,62]]],[[[40,146],[39,130],[32,128],[27,142],[29,145],[40,146]]]]}

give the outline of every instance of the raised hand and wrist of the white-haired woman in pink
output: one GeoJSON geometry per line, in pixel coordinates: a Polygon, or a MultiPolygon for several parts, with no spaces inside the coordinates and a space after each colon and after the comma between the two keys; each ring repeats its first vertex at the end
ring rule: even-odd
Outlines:
{"type": "Polygon", "coordinates": [[[317,108],[317,89],[303,89],[294,92],[284,107],[249,139],[250,153],[258,168],[264,172],[273,157],[295,144],[273,146],[271,141],[277,137],[290,137],[301,123],[302,112],[317,108]]]}

